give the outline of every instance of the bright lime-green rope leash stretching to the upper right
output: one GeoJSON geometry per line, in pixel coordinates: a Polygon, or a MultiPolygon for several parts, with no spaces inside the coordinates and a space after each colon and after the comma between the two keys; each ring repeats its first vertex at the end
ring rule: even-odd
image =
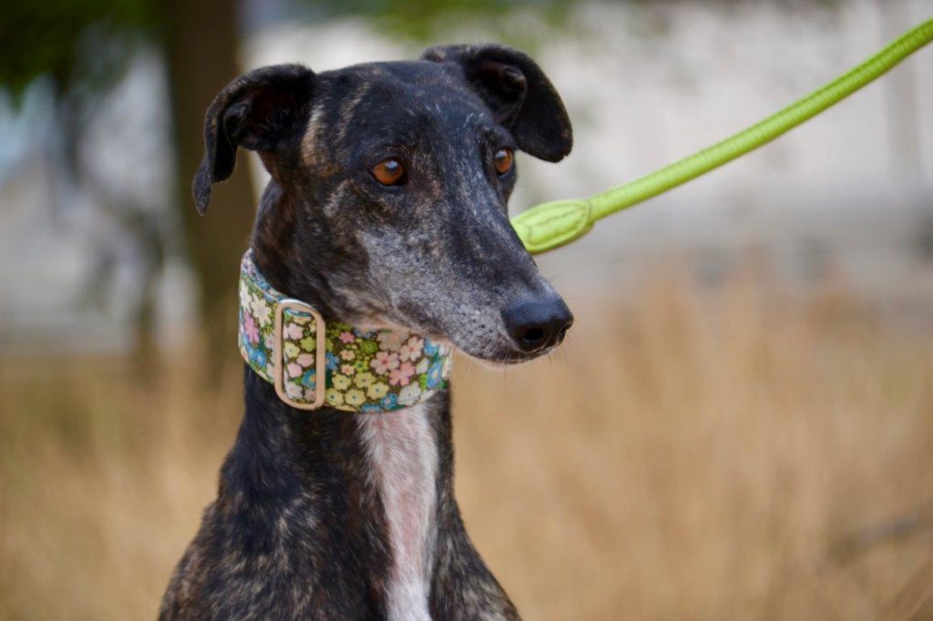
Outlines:
{"type": "Polygon", "coordinates": [[[933,19],[901,34],[886,48],[823,88],[716,145],[589,199],[542,203],[512,218],[512,226],[525,248],[533,255],[573,242],[589,231],[600,218],[656,197],[770,143],[884,75],[930,41],[933,41],[933,19]]]}

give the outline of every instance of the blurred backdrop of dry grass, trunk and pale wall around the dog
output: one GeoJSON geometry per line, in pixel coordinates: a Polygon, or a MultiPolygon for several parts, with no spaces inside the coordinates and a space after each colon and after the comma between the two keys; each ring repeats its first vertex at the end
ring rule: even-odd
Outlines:
{"type": "MultiPolygon", "coordinates": [[[[770,114],[929,0],[12,0],[0,10],[0,617],[152,618],[240,420],[258,159],[195,213],[203,112],[499,41],[574,122],[512,209],[770,114]],[[207,352],[210,352],[208,355],[207,352]]],[[[933,49],[539,265],[548,360],[455,370],[457,489],[529,619],[933,618],[933,49]]]]}

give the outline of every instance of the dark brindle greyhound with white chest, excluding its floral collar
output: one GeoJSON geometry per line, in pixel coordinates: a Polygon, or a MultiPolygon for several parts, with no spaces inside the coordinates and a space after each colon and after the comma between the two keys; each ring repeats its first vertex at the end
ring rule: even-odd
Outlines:
{"type": "MultiPolygon", "coordinates": [[[[234,80],[207,111],[199,211],[238,146],[272,180],[257,269],[325,321],[405,328],[494,363],[550,352],[573,317],[509,226],[514,149],[570,152],[564,104],[502,46],[234,80]]],[[[453,498],[450,394],[348,413],[289,406],[250,366],[217,498],[161,619],[516,619],[453,498]]]]}

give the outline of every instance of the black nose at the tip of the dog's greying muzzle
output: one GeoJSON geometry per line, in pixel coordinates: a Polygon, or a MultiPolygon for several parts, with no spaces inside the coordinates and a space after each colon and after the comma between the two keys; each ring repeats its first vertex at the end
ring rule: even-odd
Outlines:
{"type": "Polygon", "coordinates": [[[522,352],[559,345],[574,323],[574,316],[557,296],[524,298],[502,311],[502,319],[515,344],[522,352]]]}

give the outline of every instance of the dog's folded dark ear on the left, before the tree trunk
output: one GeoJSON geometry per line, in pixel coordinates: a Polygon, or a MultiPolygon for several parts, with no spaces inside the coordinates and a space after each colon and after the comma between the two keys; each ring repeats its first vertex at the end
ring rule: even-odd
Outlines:
{"type": "Polygon", "coordinates": [[[211,186],[230,178],[238,146],[272,151],[307,122],[314,73],[299,64],[262,67],[220,91],[204,118],[204,159],[194,175],[194,202],[201,214],[211,186]]]}

